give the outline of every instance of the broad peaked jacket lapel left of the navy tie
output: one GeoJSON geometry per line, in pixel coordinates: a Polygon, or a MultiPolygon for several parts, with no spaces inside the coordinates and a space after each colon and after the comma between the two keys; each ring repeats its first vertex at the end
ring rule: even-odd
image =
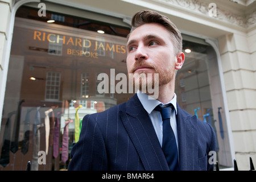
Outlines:
{"type": "Polygon", "coordinates": [[[146,171],[168,170],[154,127],[137,94],[126,103],[120,116],[146,171]]]}

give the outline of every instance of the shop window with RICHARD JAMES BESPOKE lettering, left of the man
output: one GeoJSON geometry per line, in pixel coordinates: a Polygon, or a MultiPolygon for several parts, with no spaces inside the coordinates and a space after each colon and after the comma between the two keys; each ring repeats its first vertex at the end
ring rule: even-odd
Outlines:
{"type": "MultiPolygon", "coordinates": [[[[97,90],[101,82],[97,80],[98,74],[109,75],[110,69],[115,69],[117,73],[127,72],[122,60],[126,59],[126,36],[129,31],[127,27],[48,11],[47,17],[39,17],[38,9],[19,8],[15,17],[5,104],[1,111],[0,147],[6,139],[6,136],[3,137],[5,131],[10,129],[13,133],[13,127],[8,127],[8,123],[18,127],[20,146],[15,154],[7,151],[8,160],[3,160],[5,154],[0,148],[0,170],[25,170],[32,156],[38,157],[38,148],[39,151],[48,148],[46,165],[34,165],[33,169],[67,169],[69,154],[75,143],[77,115],[81,123],[86,114],[104,111],[133,95],[118,94],[115,97],[114,93],[100,94],[97,90]],[[54,19],[55,23],[47,23],[48,19],[54,19]],[[99,34],[99,29],[105,34],[99,34]],[[16,115],[17,110],[19,115],[16,115]],[[50,133],[59,121],[60,136],[55,156],[52,137],[46,142],[46,113],[51,122],[50,133]],[[69,153],[63,158],[62,137],[67,121],[69,153]],[[36,149],[35,123],[40,130],[40,134],[36,135],[40,140],[36,149]],[[25,135],[28,136],[26,153],[21,147],[25,135]]],[[[11,139],[11,135],[7,139],[11,139]]],[[[37,160],[33,161],[35,164],[37,160]]]]}

